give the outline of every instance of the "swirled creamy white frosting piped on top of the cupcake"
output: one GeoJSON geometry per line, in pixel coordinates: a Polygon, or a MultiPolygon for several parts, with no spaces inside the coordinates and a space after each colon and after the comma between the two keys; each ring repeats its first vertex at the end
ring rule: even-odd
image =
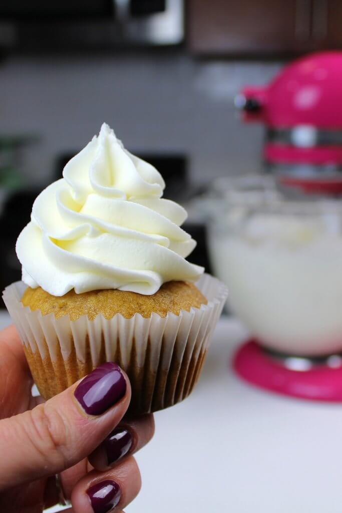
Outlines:
{"type": "Polygon", "coordinates": [[[196,243],[187,213],[161,196],[158,171],[129,153],[104,124],[43,190],[16,243],[23,281],[55,296],[118,288],[153,294],[171,280],[195,281],[185,260],[196,243]]]}

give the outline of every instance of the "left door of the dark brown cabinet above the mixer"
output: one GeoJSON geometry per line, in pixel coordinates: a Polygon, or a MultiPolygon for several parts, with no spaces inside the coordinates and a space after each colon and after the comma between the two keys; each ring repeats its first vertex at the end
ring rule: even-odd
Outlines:
{"type": "Polygon", "coordinates": [[[189,0],[190,50],[248,55],[310,49],[311,4],[312,0],[189,0]]]}

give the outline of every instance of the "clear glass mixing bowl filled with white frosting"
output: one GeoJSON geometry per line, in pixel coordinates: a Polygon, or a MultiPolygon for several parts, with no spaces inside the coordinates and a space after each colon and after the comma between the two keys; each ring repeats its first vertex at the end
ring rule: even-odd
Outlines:
{"type": "Polygon", "coordinates": [[[341,202],[232,190],[213,201],[208,246],[230,308],[261,345],[298,356],[342,351],[341,202]]]}

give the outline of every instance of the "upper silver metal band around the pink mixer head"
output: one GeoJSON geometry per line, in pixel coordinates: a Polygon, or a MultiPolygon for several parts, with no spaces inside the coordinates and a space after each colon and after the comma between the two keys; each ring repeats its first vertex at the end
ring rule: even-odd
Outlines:
{"type": "Polygon", "coordinates": [[[342,145],[342,130],[327,130],[311,125],[297,125],[292,128],[269,128],[267,140],[296,148],[342,145]]]}

